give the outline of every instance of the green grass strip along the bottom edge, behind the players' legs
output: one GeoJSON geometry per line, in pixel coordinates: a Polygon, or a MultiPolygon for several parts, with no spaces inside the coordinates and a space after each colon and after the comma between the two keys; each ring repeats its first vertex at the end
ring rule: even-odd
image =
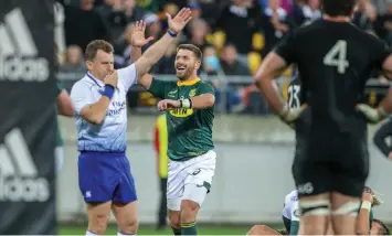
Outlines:
{"type": "MultiPolygon", "coordinates": [[[[244,226],[199,226],[199,235],[245,235],[252,225],[244,226]]],[[[279,228],[279,226],[275,226],[279,228]]],[[[85,226],[60,226],[60,235],[85,235],[85,226]]],[[[117,228],[115,226],[109,226],[106,235],[116,235],[117,228]]],[[[138,235],[172,235],[171,229],[168,227],[165,230],[156,230],[152,226],[141,225],[138,235]]]]}

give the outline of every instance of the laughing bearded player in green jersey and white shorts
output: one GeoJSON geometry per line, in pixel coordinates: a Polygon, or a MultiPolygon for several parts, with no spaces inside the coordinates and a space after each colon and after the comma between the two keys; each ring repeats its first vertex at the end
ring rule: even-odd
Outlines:
{"type": "Polygon", "coordinates": [[[198,77],[202,53],[182,44],[177,49],[178,82],[144,79],[149,93],[161,98],[158,109],[167,112],[169,135],[168,210],[176,235],[197,235],[197,215],[210,190],[215,170],[212,126],[214,89],[198,77]]]}

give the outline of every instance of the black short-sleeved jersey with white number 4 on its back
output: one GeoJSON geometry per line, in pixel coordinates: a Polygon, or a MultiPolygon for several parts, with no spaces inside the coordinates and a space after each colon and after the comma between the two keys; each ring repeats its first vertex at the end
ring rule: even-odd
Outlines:
{"type": "Polygon", "coordinates": [[[298,66],[312,128],[351,132],[351,124],[365,122],[356,109],[365,83],[391,52],[383,41],[349,22],[318,20],[285,36],[275,53],[298,66]]]}

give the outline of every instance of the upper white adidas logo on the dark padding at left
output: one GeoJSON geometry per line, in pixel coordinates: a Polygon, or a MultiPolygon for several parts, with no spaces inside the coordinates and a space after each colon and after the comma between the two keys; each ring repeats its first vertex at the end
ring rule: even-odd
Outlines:
{"type": "Polygon", "coordinates": [[[17,8],[0,23],[0,81],[44,82],[49,78],[49,62],[36,57],[38,49],[24,20],[17,8]]]}

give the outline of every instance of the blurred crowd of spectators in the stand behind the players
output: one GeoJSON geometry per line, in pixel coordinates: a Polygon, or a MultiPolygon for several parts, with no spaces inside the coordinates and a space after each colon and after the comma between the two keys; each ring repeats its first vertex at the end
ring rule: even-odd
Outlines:
{"type": "MultiPolygon", "coordinates": [[[[319,0],[59,0],[59,78],[70,89],[84,75],[84,50],[97,39],[114,44],[116,68],[127,66],[133,22],[144,20],[146,36],[156,41],[167,30],[165,13],[174,15],[182,7],[192,9],[193,20],[151,73],[158,78],[176,79],[176,46],[198,45],[203,52],[200,77],[215,87],[216,109],[222,112],[269,114],[263,96],[252,85],[252,75],[287,32],[321,17],[319,0]]],[[[359,0],[352,23],[392,45],[392,0],[359,0]]],[[[295,69],[288,68],[279,79],[284,96],[293,74],[295,69]]],[[[386,84],[377,73],[374,78],[378,85],[386,84]]],[[[370,104],[375,104],[379,96],[377,89],[373,92],[369,94],[370,104]]],[[[137,87],[128,94],[131,110],[148,110],[156,103],[137,87]]]]}

